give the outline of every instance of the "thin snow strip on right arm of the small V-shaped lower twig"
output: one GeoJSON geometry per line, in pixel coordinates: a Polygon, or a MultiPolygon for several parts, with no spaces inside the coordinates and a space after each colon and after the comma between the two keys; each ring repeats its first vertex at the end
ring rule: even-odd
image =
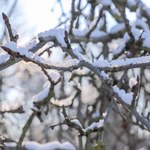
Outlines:
{"type": "Polygon", "coordinates": [[[99,122],[93,122],[90,126],[85,128],[85,131],[99,129],[104,126],[104,120],[100,119],[99,122]]]}

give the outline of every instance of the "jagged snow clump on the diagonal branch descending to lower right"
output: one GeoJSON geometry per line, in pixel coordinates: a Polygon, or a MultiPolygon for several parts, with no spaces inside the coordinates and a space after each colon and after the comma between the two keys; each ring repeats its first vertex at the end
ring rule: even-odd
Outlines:
{"type": "Polygon", "coordinates": [[[118,96],[128,105],[131,105],[133,100],[133,93],[126,93],[125,90],[119,89],[117,86],[113,87],[113,90],[118,96]]]}

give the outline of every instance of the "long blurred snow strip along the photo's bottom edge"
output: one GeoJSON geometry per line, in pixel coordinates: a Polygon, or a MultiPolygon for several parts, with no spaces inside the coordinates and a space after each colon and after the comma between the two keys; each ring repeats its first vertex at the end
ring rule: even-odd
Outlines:
{"type": "Polygon", "coordinates": [[[48,142],[45,144],[40,144],[37,142],[24,142],[24,147],[27,150],[75,150],[74,145],[70,142],[60,143],[58,141],[48,142]]]}

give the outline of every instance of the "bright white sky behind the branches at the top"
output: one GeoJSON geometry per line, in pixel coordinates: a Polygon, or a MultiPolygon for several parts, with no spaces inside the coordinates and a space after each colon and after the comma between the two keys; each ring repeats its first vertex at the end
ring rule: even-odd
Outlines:
{"type": "MultiPolygon", "coordinates": [[[[12,1],[12,0],[10,0],[12,1]]],[[[12,16],[12,26],[17,28],[18,33],[28,39],[28,36],[36,36],[39,32],[54,28],[58,23],[58,17],[61,15],[60,5],[56,4],[57,0],[18,0],[17,14],[12,16]],[[51,12],[51,9],[54,11],[51,12]],[[20,17],[20,18],[19,18],[20,17]],[[18,21],[20,24],[18,25],[18,21]],[[16,24],[15,24],[16,22],[16,24]],[[18,25],[18,27],[16,27],[18,25]]],[[[82,2],[85,2],[83,0],[82,2]]],[[[143,0],[150,7],[150,0],[143,0]]],[[[71,8],[71,0],[62,0],[64,10],[71,8]]],[[[7,6],[8,8],[8,6],[7,6]]],[[[6,8],[3,10],[7,14],[6,8]]],[[[134,18],[135,14],[130,14],[134,18]]],[[[1,19],[0,19],[1,21],[1,19]]]]}

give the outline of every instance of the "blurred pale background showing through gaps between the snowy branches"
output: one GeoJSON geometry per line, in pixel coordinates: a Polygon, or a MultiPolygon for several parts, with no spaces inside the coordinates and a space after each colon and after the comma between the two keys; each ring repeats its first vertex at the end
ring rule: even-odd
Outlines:
{"type": "MultiPolygon", "coordinates": [[[[84,30],[89,27],[92,22],[94,22],[94,17],[96,18],[99,14],[99,5],[105,6],[105,15],[102,18],[104,21],[99,23],[100,30],[109,33],[119,21],[122,22],[122,16],[118,15],[118,9],[113,2],[111,7],[107,7],[104,0],[76,0],[75,9],[80,10],[79,12],[82,13],[78,15],[75,28],[84,30]]],[[[147,9],[150,10],[150,0],[128,0],[126,15],[130,24],[135,24],[139,11],[142,12],[141,14],[144,14],[144,11],[147,9]]],[[[14,28],[19,35],[18,45],[23,46],[35,39],[40,32],[52,28],[66,28],[66,30],[69,30],[72,17],[72,1],[0,0],[0,14],[2,12],[9,17],[12,28],[14,28]]],[[[146,18],[144,16],[142,19],[147,22],[148,26],[150,25],[148,20],[150,17],[146,18]]],[[[0,31],[0,44],[5,45],[9,41],[9,37],[2,16],[0,16],[0,31]]],[[[115,53],[125,33],[124,31],[121,32],[123,32],[120,33],[121,36],[119,35],[118,38],[114,40],[112,37],[112,40],[106,43],[101,41],[97,43],[91,41],[83,42],[83,48],[86,50],[86,52],[84,52],[85,56],[91,62],[98,58],[122,58],[123,53],[117,53],[117,55],[115,53]]],[[[73,43],[73,46],[77,44],[78,43],[73,43]]],[[[43,49],[40,51],[43,51],[43,49]]],[[[64,61],[66,56],[60,48],[53,47],[50,51],[51,55],[45,52],[42,54],[42,57],[54,63],[64,61]]],[[[0,49],[0,53],[3,54],[5,52],[0,49]]],[[[123,71],[115,73],[112,75],[112,78],[119,81],[123,74],[123,71]]],[[[140,79],[142,80],[137,110],[145,116],[145,118],[147,117],[147,119],[149,119],[149,67],[145,67],[141,70],[129,70],[126,72],[126,76],[123,80],[126,83],[132,82],[131,80],[137,75],[140,75],[140,79]]],[[[54,89],[55,98],[61,100],[74,95],[74,87],[82,91],[81,94],[74,97],[72,104],[67,109],[69,116],[71,118],[78,118],[83,126],[89,125],[92,121],[98,121],[105,112],[110,97],[106,96],[108,93],[105,91],[105,87],[101,86],[101,81],[97,76],[91,71],[81,68],[72,73],[64,72],[64,74],[61,74],[61,78],[61,82],[58,83],[54,89]]],[[[46,82],[47,78],[38,66],[23,61],[0,72],[0,109],[7,110],[21,105],[25,111],[22,114],[1,113],[1,136],[18,141],[22,128],[32,112],[33,97],[43,89],[46,82]]],[[[126,110],[124,110],[122,106],[118,107],[126,114],[126,110]]],[[[44,120],[43,122],[40,122],[38,118],[34,118],[25,140],[40,143],[54,140],[60,142],[70,141],[77,149],[80,149],[81,143],[76,130],[69,129],[66,125],[57,126],[53,130],[49,128],[50,125],[60,123],[63,120],[59,107],[50,105],[48,114],[43,113],[42,118],[44,120]]],[[[148,150],[150,148],[150,133],[142,128],[142,126],[139,127],[139,124],[136,124],[137,122],[133,116],[131,118],[135,123],[130,124],[130,120],[126,123],[123,121],[121,115],[113,109],[103,133],[93,133],[89,137],[83,137],[83,147],[85,149],[94,149],[93,145],[97,143],[97,139],[101,137],[104,142],[104,147],[110,150],[148,150]]],[[[102,145],[102,143],[98,144],[102,145]]]]}

